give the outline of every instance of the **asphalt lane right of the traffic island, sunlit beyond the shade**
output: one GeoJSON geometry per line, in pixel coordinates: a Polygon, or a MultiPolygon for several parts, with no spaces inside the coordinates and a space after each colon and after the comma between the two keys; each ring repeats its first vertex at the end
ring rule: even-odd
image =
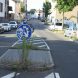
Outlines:
{"type": "Polygon", "coordinates": [[[35,32],[48,43],[60,78],[78,78],[78,43],[54,34],[39,21],[33,21],[35,32]]]}

